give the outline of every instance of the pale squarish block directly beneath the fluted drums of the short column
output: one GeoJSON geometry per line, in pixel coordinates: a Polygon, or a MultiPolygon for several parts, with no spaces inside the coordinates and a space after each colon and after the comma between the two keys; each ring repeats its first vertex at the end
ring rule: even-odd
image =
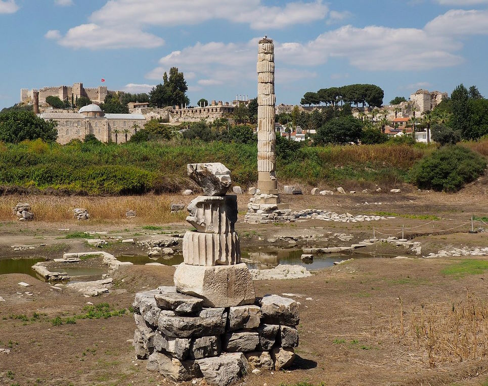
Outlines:
{"type": "Polygon", "coordinates": [[[204,299],[207,307],[241,306],[255,300],[254,284],[244,263],[214,267],[182,263],[174,272],[174,284],[178,292],[204,299]]]}

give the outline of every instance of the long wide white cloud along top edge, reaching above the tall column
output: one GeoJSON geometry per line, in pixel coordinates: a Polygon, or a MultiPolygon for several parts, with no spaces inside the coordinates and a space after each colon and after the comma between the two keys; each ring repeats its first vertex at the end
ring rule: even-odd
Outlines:
{"type": "Polygon", "coordinates": [[[97,23],[118,25],[188,25],[209,20],[224,19],[233,23],[245,23],[253,29],[285,28],[298,23],[324,19],[328,7],[322,0],[292,2],[284,7],[269,7],[261,0],[110,0],[94,12],[91,20],[97,23]]]}

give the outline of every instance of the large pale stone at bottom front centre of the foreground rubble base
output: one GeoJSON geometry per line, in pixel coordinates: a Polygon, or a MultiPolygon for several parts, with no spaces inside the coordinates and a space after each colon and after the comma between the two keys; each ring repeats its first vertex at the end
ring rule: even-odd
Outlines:
{"type": "Polygon", "coordinates": [[[196,360],[207,383],[227,386],[248,374],[251,369],[242,353],[225,353],[218,357],[196,360]]]}

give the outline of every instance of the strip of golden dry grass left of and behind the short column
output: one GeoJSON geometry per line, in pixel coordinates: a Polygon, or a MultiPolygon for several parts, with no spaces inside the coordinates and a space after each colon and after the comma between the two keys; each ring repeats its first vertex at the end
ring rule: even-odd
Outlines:
{"type": "Polygon", "coordinates": [[[170,213],[170,199],[167,196],[128,197],[52,197],[52,196],[10,196],[0,197],[0,221],[16,219],[12,207],[19,202],[29,203],[34,213],[34,222],[76,221],[74,208],[85,208],[91,222],[120,221],[125,219],[126,210],[135,210],[134,223],[168,223],[183,221],[186,211],[170,213]]]}

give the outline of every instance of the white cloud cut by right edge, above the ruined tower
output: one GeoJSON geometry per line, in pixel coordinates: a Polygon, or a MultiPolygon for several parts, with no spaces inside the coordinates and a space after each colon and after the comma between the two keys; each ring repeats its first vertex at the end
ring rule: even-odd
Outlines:
{"type": "Polygon", "coordinates": [[[450,10],[428,22],[425,30],[444,36],[488,34],[488,11],[450,10]]]}

